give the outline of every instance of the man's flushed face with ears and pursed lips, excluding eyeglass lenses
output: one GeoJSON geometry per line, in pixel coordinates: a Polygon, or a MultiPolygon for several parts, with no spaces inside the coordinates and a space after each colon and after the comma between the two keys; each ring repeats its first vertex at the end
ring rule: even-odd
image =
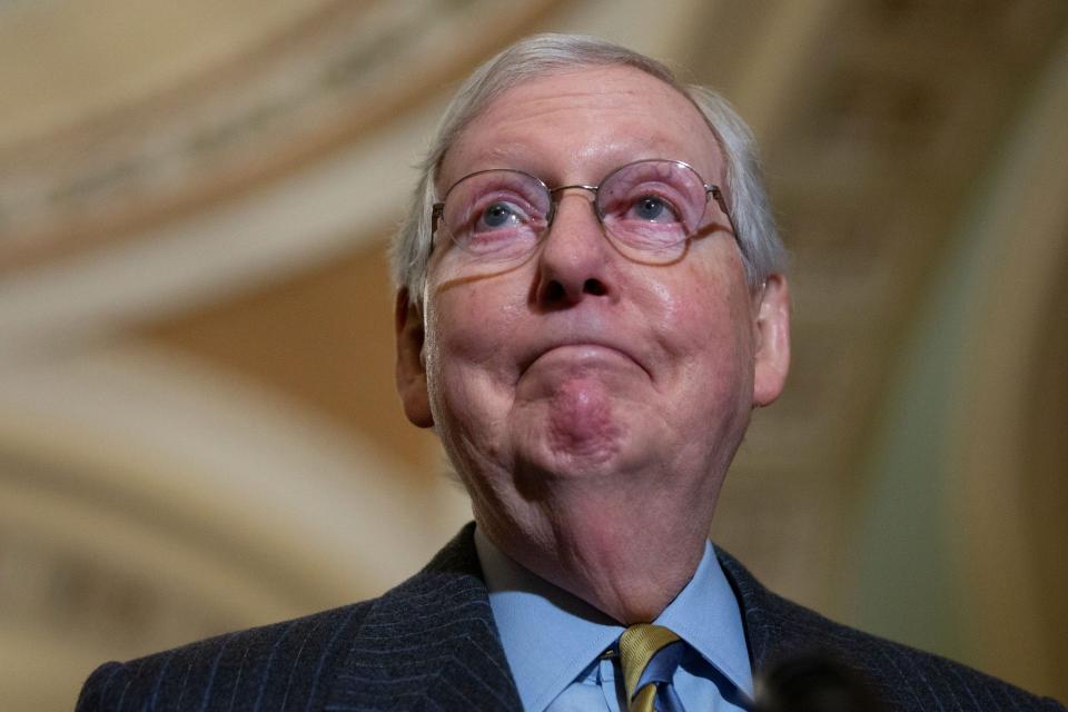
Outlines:
{"type": "MultiPolygon", "coordinates": [[[[723,185],[715,138],[684,97],[636,69],[584,69],[497,98],[449,149],[437,192],[491,168],[596,185],[652,158],[723,185]]],[[[472,269],[438,236],[423,319],[398,314],[406,411],[433,418],[476,518],[498,536],[558,538],[562,517],[636,506],[706,531],[754,399],[782,386],[783,348],[774,364],[762,357],[768,289],[746,286],[714,201],[702,226],[720,229],[655,265],[613,247],[591,194],[555,197],[537,251],[506,269],[472,269]]],[[[785,318],[784,284],[770,289],[785,318]]]]}

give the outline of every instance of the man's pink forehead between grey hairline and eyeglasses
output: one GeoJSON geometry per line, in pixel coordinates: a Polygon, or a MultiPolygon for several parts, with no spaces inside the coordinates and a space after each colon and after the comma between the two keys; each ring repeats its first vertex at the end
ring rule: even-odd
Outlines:
{"type": "Polygon", "coordinates": [[[673,87],[633,67],[571,70],[492,101],[446,152],[438,190],[486,168],[520,168],[557,185],[595,182],[643,158],[682,160],[706,181],[722,181],[712,130],[673,87]]]}

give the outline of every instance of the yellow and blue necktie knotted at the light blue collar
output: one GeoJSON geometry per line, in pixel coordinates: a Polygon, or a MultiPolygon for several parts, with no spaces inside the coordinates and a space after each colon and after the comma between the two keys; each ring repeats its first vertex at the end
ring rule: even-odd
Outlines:
{"type": "Polygon", "coordinates": [[[670,685],[682,661],[682,641],[662,625],[641,623],[620,635],[620,665],[629,712],[652,712],[657,686],[670,685]]]}

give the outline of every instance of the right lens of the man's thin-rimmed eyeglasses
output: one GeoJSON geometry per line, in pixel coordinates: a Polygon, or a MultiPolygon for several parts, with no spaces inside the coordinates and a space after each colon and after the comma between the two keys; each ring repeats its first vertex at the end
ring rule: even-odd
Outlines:
{"type": "Polygon", "coordinates": [[[698,231],[708,194],[698,174],[671,160],[620,168],[601,184],[597,210],[620,243],[646,251],[671,248],[698,231]]]}

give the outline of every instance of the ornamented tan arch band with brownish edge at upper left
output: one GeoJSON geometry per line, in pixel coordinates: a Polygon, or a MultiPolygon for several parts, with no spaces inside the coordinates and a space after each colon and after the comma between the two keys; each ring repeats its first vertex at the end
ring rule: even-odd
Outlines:
{"type": "Polygon", "coordinates": [[[557,2],[322,2],[237,58],[174,86],[161,77],[155,93],[7,147],[0,270],[131,239],[358,142],[557,2]]]}

